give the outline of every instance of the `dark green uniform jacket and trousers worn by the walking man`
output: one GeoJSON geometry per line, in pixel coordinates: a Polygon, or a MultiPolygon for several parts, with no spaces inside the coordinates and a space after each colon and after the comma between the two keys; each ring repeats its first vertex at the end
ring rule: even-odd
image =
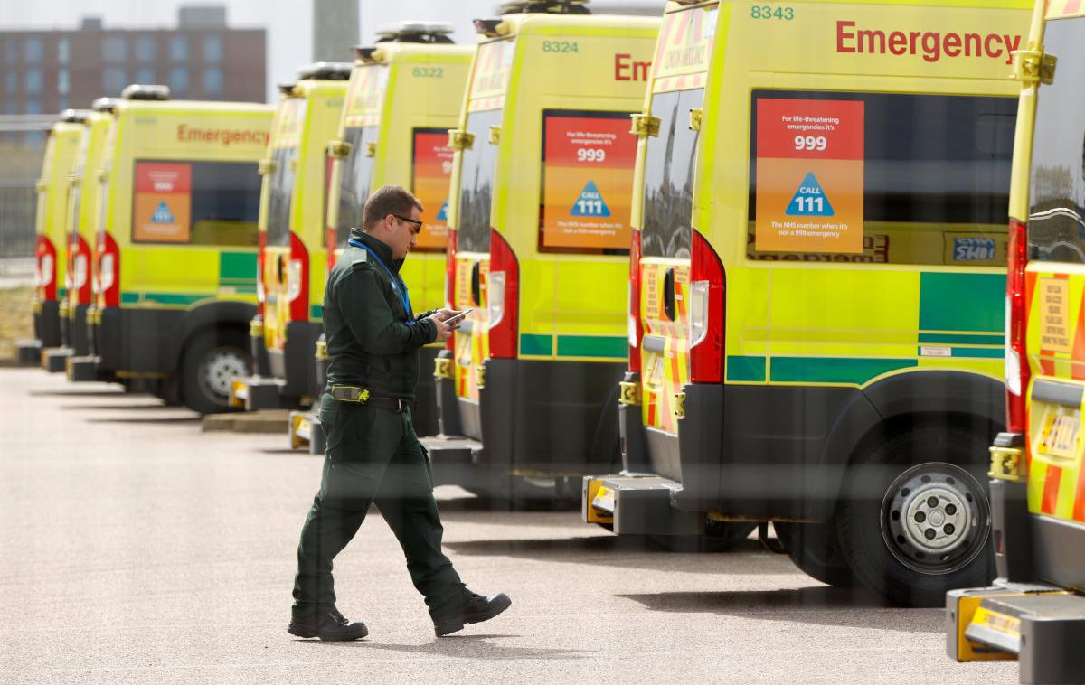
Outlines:
{"type": "MultiPolygon", "coordinates": [[[[332,559],[358,532],[370,503],[392,527],[414,587],[433,617],[462,606],[471,594],[441,551],[443,529],[425,450],[408,405],[418,382],[418,349],[437,337],[416,320],[392,249],[358,229],[335,262],[324,294],[324,334],[331,365],[320,399],[328,440],[320,492],[297,546],[294,613],[335,604],[332,559]],[[369,391],[369,402],[332,398],[332,388],[369,391]],[[403,400],[403,402],[397,402],[403,400]]],[[[342,392],[342,391],[340,391],[342,392]]]]}

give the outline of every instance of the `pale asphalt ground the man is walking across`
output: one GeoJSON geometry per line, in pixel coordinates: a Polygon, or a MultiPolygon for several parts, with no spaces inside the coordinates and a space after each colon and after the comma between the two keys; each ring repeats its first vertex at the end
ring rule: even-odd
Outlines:
{"type": "Polygon", "coordinates": [[[320,457],[104,384],[0,369],[0,683],[1016,683],[945,656],[942,611],[810,580],[749,540],[655,552],[577,513],[437,489],[497,619],[435,638],[378,514],[336,560],[356,643],[285,631],[320,457]]]}

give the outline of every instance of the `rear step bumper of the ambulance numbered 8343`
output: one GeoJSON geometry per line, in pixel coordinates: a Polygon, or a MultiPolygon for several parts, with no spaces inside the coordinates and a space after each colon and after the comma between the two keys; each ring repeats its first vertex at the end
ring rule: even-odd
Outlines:
{"type": "Polygon", "coordinates": [[[674,507],[680,491],[680,482],[662,476],[585,476],[580,516],[587,524],[612,525],[618,534],[703,534],[703,514],[674,507]]]}

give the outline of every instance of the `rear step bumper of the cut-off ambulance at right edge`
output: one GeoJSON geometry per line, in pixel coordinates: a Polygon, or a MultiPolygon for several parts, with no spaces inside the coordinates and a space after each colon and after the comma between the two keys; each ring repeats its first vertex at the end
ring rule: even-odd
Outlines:
{"type": "Polygon", "coordinates": [[[1020,661],[1021,683],[1085,682],[1085,597],[1007,583],[946,595],[947,648],[959,661],[1020,661]]]}

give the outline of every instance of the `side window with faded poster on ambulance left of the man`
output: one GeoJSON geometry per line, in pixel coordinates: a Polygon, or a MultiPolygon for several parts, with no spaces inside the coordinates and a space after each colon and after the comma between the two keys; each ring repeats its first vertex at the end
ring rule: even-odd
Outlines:
{"type": "Polygon", "coordinates": [[[256,163],[141,159],[135,171],[132,242],[256,247],[256,163]]]}

